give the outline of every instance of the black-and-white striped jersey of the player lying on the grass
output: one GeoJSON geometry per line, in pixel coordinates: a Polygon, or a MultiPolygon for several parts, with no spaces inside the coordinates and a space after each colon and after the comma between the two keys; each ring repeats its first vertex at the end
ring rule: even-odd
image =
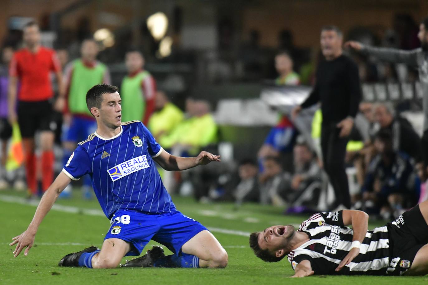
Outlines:
{"type": "Polygon", "coordinates": [[[360,254],[339,272],[335,269],[351,250],[354,235],[351,228],[344,226],[342,211],[313,214],[300,225],[298,231],[306,232],[310,240],[288,254],[293,269],[307,259],[315,274],[386,274],[389,265],[386,226],[367,231],[360,254]]]}

